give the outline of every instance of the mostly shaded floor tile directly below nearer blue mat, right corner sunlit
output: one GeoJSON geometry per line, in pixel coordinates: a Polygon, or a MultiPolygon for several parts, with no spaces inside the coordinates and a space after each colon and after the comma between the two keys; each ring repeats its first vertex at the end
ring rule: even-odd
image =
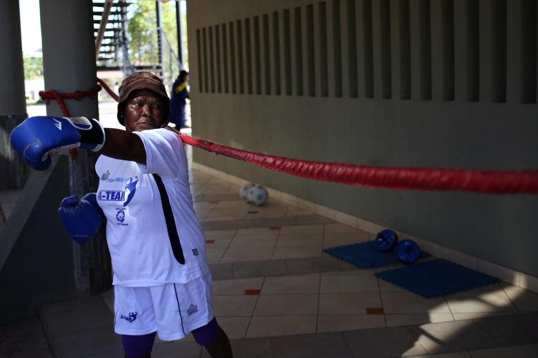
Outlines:
{"type": "Polygon", "coordinates": [[[450,313],[443,297],[424,298],[409,292],[383,292],[383,308],[390,313],[450,313]]]}

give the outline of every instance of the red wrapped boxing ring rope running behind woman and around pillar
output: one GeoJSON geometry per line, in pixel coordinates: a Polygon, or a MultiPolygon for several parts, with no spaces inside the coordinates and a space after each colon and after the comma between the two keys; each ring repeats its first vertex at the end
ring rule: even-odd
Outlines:
{"type": "MultiPolygon", "coordinates": [[[[98,81],[110,96],[117,101],[117,94],[99,78],[98,81]]],[[[63,114],[70,116],[65,103],[63,103],[63,98],[78,99],[84,96],[94,96],[100,89],[101,86],[97,85],[95,89],[85,92],[77,91],[58,94],[55,91],[41,91],[39,95],[41,98],[46,99],[47,104],[50,99],[58,101],[63,114]]],[[[536,169],[479,171],[468,169],[373,167],[337,162],[315,162],[226,147],[200,138],[187,136],[186,134],[179,134],[179,138],[183,143],[215,154],[243,160],[262,168],[280,171],[293,176],[325,182],[388,189],[474,191],[477,193],[497,194],[538,193],[538,170],[536,169]]]]}

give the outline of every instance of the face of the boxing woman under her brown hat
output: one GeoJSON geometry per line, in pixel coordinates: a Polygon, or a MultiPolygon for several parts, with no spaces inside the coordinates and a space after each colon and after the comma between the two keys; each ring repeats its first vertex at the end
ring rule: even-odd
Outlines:
{"type": "Polygon", "coordinates": [[[148,89],[133,92],[127,101],[123,116],[127,131],[161,128],[166,123],[164,101],[148,89]]]}

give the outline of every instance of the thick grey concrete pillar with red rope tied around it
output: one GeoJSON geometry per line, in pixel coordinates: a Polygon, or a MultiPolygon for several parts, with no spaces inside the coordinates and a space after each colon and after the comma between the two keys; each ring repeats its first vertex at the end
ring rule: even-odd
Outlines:
{"type": "MultiPolygon", "coordinates": [[[[40,0],[43,72],[46,89],[74,92],[97,85],[95,46],[92,26],[92,3],[88,0],[40,0]]],[[[66,100],[71,116],[98,118],[97,96],[66,100]]],[[[63,116],[56,101],[47,106],[49,116],[63,116]]],[[[70,160],[70,192],[82,196],[95,191],[93,154],[80,150],[76,161],[70,160]]],[[[58,198],[61,200],[61,198],[58,198]]],[[[59,203],[59,202],[58,202],[59,203]]],[[[99,260],[108,257],[103,237],[84,245],[73,244],[74,281],[78,295],[101,291],[110,273],[99,260]],[[104,279],[103,279],[104,277],[104,279]],[[97,286],[96,286],[97,285],[97,286]]],[[[106,265],[105,265],[106,266],[106,265]]]]}

